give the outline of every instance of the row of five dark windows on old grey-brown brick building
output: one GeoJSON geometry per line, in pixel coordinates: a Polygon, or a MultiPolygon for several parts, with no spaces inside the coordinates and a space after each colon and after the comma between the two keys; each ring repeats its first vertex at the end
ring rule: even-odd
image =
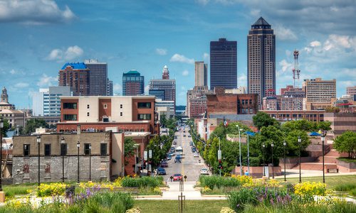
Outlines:
{"type": "MultiPolygon", "coordinates": [[[[90,155],[90,143],[84,143],[84,155],[90,155]]],[[[67,155],[68,145],[67,143],[61,143],[61,156],[67,155]]],[[[107,155],[108,144],[100,143],[100,155],[107,155]]],[[[30,144],[23,144],[23,156],[30,155],[30,144]]],[[[51,143],[44,144],[44,155],[51,156],[51,143]]]]}

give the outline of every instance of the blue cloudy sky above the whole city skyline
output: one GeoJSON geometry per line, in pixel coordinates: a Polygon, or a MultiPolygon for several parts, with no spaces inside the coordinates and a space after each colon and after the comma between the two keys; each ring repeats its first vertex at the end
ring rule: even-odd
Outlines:
{"type": "MultiPolygon", "coordinates": [[[[0,87],[17,108],[31,94],[58,85],[65,62],[108,62],[114,93],[122,72],[177,80],[177,105],[194,87],[194,61],[209,65],[209,43],[237,41],[238,86],[246,86],[247,35],[262,16],[276,34],[276,90],[300,81],[337,80],[337,97],[356,85],[356,0],[0,0],[0,87]]],[[[209,76],[209,75],[208,75],[209,76]]]]}

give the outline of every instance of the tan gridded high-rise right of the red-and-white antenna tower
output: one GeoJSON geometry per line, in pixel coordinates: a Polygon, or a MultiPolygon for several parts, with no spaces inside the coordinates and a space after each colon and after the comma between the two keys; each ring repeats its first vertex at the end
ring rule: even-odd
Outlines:
{"type": "Polygon", "coordinates": [[[322,80],[315,78],[304,80],[303,89],[305,99],[303,100],[304,110],[325,109],[332,107],[336,101],[336,80],[322,80]]]}

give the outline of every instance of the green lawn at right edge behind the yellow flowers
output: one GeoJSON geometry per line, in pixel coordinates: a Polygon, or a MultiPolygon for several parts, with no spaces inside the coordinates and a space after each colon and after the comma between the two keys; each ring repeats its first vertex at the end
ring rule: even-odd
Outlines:
{"type": "MultiPolygon", "coordinates": [[[[283,180],[283,178],[279,178],[277,180],[283,180]]],[[[303,178],[302,182],[323,182],[323,177],[309,177],[303,178]]],[[[299,182],[299,178],[287,178],[287,182],[291,182],[293,184],[299,182]]],[[[356,183],[356,175],[340,175],[340,176],[325,176],[325,184],[326,187],[330,190],[333,190],[336,185],[344,184],[344,183],[356,183]]]]}

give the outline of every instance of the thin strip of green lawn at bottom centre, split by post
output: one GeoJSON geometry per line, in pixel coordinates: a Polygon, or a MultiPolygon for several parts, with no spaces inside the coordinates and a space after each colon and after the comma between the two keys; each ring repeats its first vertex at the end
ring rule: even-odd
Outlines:
{"type": "MultiPolygon", "coordinates": [[[[184,212],[220,212],[222,207],[229,207],[227,200],[186,200],[184,212]]],[[[136,200],[135,207],[142,212],[178,212],[178,200],[136,200]]]]}

